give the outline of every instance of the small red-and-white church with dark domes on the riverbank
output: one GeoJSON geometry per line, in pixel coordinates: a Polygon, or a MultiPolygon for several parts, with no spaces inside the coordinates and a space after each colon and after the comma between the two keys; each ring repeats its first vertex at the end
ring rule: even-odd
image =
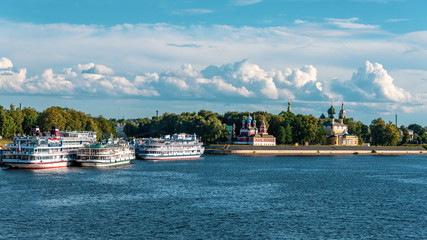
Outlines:
{"type": "Polygon", "coordinates": [[[275,146],[276,138],[272,135],[268,135],[264,119],[262,119],[258,131],[256,120],[252,119],[249,115],[246,120],[242,120],[240,134],[237,136],[237,141],[235,141],[234,144],[275,146]]]}

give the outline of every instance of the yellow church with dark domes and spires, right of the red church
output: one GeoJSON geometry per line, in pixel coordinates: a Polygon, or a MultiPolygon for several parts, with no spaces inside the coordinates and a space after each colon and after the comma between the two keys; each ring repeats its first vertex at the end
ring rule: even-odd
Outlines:
{"type": "Polygon", "coordinates": [[[328,109],[328,121],[322,113],[320,121],[328,133],[327,139],[330,145],[355,146],[359,144],[359,138],[348,133],[348,126],[344,124],[344,119],[347,118],[347,113],[344,110],[344,103],[341,105],[341,110],[338,119],[335,119],[336,110],[331,104],[328,109]]]}

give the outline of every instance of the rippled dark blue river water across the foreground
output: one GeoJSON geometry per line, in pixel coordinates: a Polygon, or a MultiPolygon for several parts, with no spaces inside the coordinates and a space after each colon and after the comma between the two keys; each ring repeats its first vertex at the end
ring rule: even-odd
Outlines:
{"type": "Polygon", "coordinates": [[[0,201],[0,239],[427,239],[427,158],[2,170],[0,201]]]}

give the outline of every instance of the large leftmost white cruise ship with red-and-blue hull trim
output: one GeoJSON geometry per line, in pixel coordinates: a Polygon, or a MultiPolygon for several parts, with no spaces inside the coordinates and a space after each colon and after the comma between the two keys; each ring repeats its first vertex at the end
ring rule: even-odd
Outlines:
{"type": "Polygon", "coordinates": [[[38,127],[32,136],[16,137],[3,151],[2,165],[10,168],[45,169],[75,163],[77,151],[96,141],[96,132],[59,131],[53,127],[44,136],[38,127]]]}

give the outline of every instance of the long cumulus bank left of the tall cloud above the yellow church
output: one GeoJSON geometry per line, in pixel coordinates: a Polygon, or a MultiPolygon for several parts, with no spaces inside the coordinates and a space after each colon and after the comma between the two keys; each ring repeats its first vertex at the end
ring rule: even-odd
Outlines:
{"type": "Polygon", "coordinates": [[[0,87],[8,92],[41,95],[218,101],[251,98],[251,101],[256,101],[287,99],[295,97],[294,93],[303,93],[305,96],[299,96],[302,99],[310,98],[313,92],[321,94],[322,84],[316,75],[317,70],[311,65],[300,69],[265,70],[248,60],[219,67],[210,65],[201,71],[184,64],[177,71],[146,72],[133,76],[117,74],[105,65],[88,63],[61,72],[47,69],[34,77],[27,77],[25,69],[3,69],[0,71],[0,87]]]}

